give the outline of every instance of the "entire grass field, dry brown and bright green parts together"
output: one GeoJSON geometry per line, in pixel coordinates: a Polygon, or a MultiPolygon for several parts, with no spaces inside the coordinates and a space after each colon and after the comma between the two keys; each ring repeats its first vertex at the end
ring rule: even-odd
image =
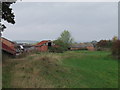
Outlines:
{"type": "Polygon", "coordinates": [[[117,88],[118,61],[105,51],[35,53],[3,64],[3,88],[117,88]]]}

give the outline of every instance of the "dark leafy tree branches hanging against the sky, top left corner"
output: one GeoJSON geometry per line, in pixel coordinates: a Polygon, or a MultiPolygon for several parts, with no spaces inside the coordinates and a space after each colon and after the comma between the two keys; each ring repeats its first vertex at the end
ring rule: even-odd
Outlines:
{"type": "MultiPolygon", "coordinates": [[[[8,23],[11,23],[11,24],[15,24],[15,20],[14,20],[15,15],[12,12],[12,8],[10,7],[11,4],[13,3],[15,2],[0,2],[0,13],[1,13],[0,16],[4,21],[7,21],[8,23]]],[[[0,23],[0,28],[1,28],[1,31],[3,31],[6,28],[6,26],[0,23]]]]}

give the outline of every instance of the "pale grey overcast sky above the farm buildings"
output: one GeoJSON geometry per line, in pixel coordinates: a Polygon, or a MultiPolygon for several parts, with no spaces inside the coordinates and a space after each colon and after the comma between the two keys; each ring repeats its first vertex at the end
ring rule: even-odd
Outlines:
{"type": "Polygon", "coordinates": [[[42,3],[12,5],[14,25],[6,24],[10,40],[54,40],[68,30],[75,41],[111,39],[118,35],[117,2],[42,3]]]}

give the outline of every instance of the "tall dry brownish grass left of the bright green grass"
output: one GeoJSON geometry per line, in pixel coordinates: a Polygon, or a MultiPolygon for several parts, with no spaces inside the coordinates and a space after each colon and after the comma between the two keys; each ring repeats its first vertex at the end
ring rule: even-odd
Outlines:
{"type": "Polygon", "coordinates": [[[30,54],[24,58],[11,59],[3,67],[3,87],[53,87],[51,81],[46,81],[43,75],[48,75],[59,63],[60,56],[52,53],[30,54]]]}

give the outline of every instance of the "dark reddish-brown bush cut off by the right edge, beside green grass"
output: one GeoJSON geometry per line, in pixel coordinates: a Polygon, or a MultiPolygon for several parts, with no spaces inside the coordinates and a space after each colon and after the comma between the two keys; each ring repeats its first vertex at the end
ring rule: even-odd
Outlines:
{"type": "Polygon", "coordinates": [[[120,40],[114,41],[112,47],[112,55],[120,59],[120,40]]]}

